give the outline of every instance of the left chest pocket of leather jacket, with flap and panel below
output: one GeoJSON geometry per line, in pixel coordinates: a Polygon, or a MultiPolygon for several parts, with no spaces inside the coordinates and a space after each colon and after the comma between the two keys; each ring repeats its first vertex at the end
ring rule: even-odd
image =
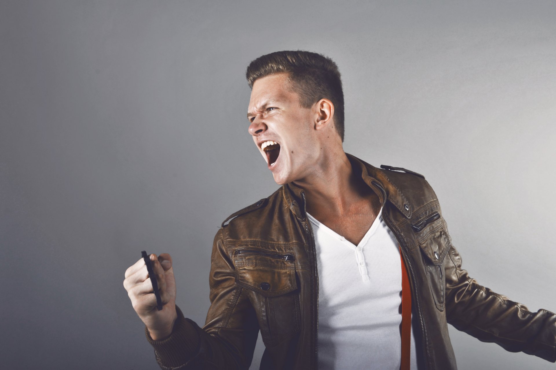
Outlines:
{"type": "MultiPolygon", "coordinates": [[[[300,330],[299,289],[291,257],[272,258],[249,253],[237,258],[236,284],[250,291],[266,346],[291,338],[300,330]]],[[[292,256],[291,254],[288,254],[292,256]]]]}

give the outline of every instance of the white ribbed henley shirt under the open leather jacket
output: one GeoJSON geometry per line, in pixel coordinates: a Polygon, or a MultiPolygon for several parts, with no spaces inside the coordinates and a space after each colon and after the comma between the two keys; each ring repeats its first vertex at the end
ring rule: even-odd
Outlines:
{"type": "MultiPolygon", "coordinates": [[[[382,210],[358,246],[307,213],[319,273],[319,369],[399,370],[401,260],[382,210]]],[[[417,369],[411,331],[411,370],[417,369]]]]}

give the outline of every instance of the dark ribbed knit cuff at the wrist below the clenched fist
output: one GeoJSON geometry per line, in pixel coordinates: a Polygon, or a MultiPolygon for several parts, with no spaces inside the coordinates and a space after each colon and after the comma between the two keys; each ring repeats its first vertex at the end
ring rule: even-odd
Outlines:
{"type": "Polygon", "coordinates": [[[199,349],[199,333],[190,319],[183,317],[181,309],[176,306],[177,319],[172,334],[166,339],[155,341],[145,326],[147,341],[155,348],[163,365],[179,367],[189,361],[199,349]]]}

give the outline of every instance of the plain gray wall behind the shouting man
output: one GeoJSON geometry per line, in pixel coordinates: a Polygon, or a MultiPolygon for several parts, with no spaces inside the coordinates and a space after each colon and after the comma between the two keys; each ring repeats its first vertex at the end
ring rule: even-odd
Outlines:
{"type": "MultiPolygon", "coordinates": [[[[555,311],[554,19],[553,1],[2,1],[0,363],[157,368],[122,286],[142,249],[172,254],[204,323],[217,226],[277,188],[244,73],[283,49],[337,62],[346,152],[425,174],[470,276],[555,311]]],[[[460,369],[554,368],[450,334],[460,369]]]]}

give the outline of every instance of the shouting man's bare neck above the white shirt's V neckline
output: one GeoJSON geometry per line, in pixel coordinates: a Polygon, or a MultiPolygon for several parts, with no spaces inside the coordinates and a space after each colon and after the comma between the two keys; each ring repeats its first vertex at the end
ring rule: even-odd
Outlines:
{"type": "Polygon", "coordinates": [[[311,174],[294,184],[303,189],[307,197],[307,212],[317,217],[327,213],[344,216],[350,207],[372,190],[354,172],[343,149],[322,158],[311,174]]]}

